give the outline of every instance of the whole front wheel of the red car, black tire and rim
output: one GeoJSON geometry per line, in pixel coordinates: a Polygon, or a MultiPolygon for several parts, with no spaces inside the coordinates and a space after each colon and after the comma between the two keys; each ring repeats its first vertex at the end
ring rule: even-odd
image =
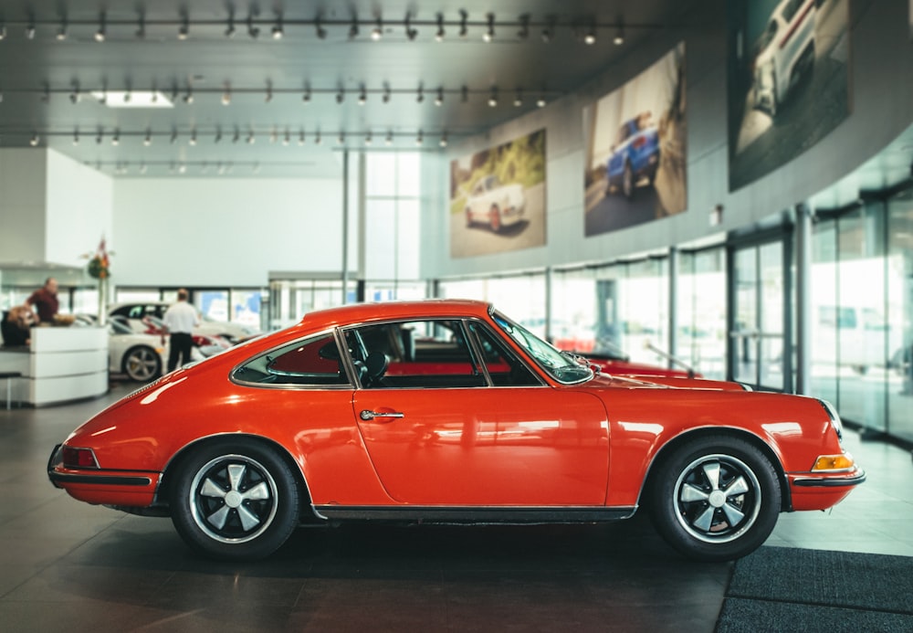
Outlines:
{"type": "Polygon", "coordinates": [[[771,535],[782,492],[771,460],[740,438],[697,438],[651,476],[656,531],[689,558],[726,561],[750,554],[771,535]]]}

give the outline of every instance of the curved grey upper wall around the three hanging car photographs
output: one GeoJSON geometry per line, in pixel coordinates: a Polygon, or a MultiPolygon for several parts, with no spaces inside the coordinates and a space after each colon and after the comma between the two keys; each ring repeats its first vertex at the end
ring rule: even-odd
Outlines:
{"type": "MultiPolygon", "coordinates": [[[[726,3],[693,2],[681,20],[606,69],[573,95],[448,148],[426,167],[427,206],[448,209],[448,164],[544,128],[547,134],[546,245],[476,258],[450,256],[446,213],[423,216],[423,275],[446,278],[495,270],[604,261],[747,227],[833,185],[913,123],[913,41],[907,0],[824,0],[850,11],[850,115],[805,153],[730,193],[727,133],[726,3]],[[622,86],[678,42],[687,57],[687,211],[614,233],[583,237],[582,108],[622,86]],[[710,210],[724,207],[711,227],[710,210]]],[[[905,148],[911,157],[913,149],[905,148]]],[[[882,185],[888,185],[883,183],[882,185]]],[[[845,195],[855,197],[855,192],[845,195]]],[[[839,201],[834,201],[838,203],[839,201]]]]}

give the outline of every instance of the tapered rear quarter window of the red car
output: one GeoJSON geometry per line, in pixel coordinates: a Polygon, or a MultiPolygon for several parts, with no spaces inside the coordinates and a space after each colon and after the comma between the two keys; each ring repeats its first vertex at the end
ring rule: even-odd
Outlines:
{"type": "Polygon", "coordinates": [[[258,385],[349,385],[332,334],[261,354],[232,372],[232,380],[258,385]]]}

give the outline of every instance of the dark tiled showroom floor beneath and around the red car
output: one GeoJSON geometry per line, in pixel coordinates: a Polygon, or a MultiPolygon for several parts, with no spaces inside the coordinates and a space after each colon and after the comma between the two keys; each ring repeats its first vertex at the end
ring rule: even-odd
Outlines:
{"type": "MultiPolygon", "coordinates": [[[[125,395],[0,409],[5,631],[712,631],[730,564],[694,564],[647,522],[302,529],[267,561],[191,554],[167,519],[71,500],[54,444],[125,395]]],[[[913,556],[908,451],[846,442],[869,473],[833,512],[782,514],[767,544],[913,556]]],[[[889,590],[889,588],[887,589],[889,590]]]]}

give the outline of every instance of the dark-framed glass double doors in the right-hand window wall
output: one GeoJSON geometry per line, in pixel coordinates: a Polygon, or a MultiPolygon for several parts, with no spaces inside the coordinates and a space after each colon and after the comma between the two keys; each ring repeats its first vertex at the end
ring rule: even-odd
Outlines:
{"type": "Polygon", "coordinates": [[[783,248],[778,240],[732,251],[729,375],[756,389],[792,391],[783,248]]]}

